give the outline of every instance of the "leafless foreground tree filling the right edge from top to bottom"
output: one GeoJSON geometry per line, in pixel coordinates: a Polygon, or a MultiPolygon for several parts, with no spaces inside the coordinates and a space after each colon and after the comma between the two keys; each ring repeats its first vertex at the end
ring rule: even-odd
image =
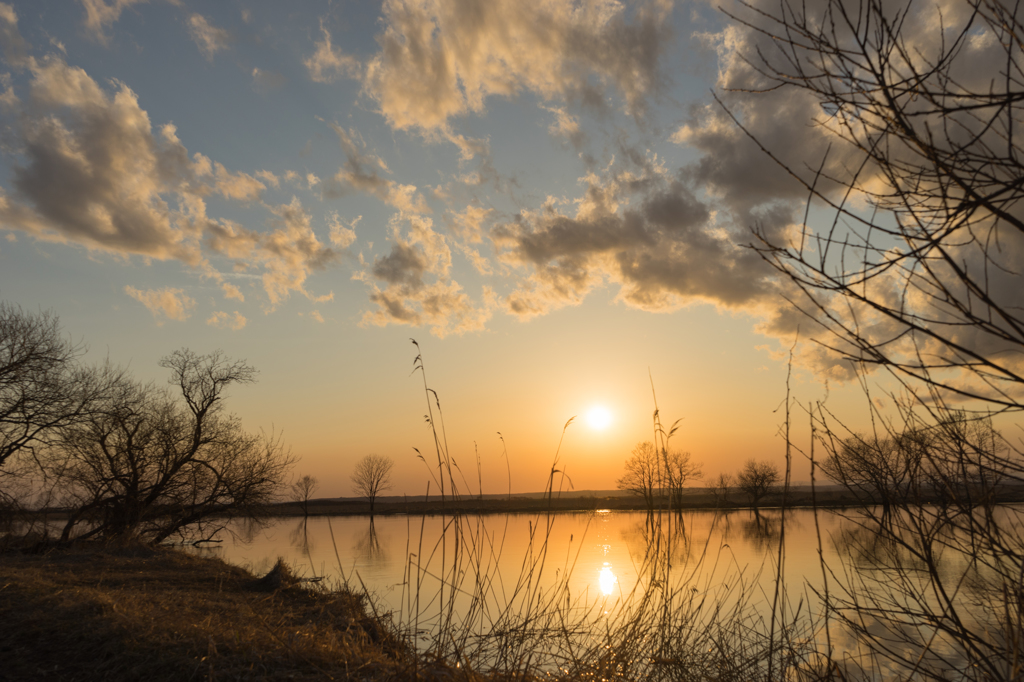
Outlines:
{"type": "MultiPolygon", "coordinates": [[[[886,590],[848,584],[834,612],[900,677],[941,679],[952,659],[965,679],[1018,677],[1021,516],[987,492],[993,475],[1024,481],[1024,466],[1019,446],[970,425],[1024,410],[1024,6],[739,5],[734,17],[757,42],[745,57],[760,82],[748,88],[808,97],[828,143],[802,164],[780,162],[806,187],[804,224],[757,226],[756,248],[826,330],[823,345],[861,377],[888,370],[909,396],[891,424],[870,403],[883,426],[863,439],[868,450],[896,447],[910,429],[930,434],[922,470],[946,498],[887,523],[865,510],[864,537],[886,546],[886,590]],[[923,649],[926,623],[935,635],[923,649]]],[[[756,141],[779,158],[772,140],[756,141]]],[[[839,420],[813,414],[842,457],[839,420]]]]}

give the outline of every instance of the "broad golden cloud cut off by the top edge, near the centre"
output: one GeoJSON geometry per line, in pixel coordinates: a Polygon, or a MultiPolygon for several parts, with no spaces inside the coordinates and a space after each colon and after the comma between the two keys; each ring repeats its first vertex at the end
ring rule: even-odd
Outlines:
{"type": "MultiPolygon", "coordinates": [[[[628,10],[570,0],[387,0],[365,90],[399,130],[444,132],[490,96],[546,100],[615,89],[639,113],[659,87],[671,2],[628,10]]],[[[600,100],[602,97],[597,97],[600,100]]]]}

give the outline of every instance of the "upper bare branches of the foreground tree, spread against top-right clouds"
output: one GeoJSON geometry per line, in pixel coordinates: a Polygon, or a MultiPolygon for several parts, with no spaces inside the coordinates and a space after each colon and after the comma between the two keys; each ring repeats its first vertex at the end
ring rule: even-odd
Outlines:
{"type": "Polygon", "coordinates": [[[824,159],[785,167],[831,212],[824,228],[784,240],[757,228],[756,248],[836,352],[1021,410],[1020,6],[965,0],[927,51],[902,33],[922,20],[909,4],[748,7],[739,20],[763,37],[749,55],[763,88],[817,99],[813,123],[833,142],[824,159]]]}

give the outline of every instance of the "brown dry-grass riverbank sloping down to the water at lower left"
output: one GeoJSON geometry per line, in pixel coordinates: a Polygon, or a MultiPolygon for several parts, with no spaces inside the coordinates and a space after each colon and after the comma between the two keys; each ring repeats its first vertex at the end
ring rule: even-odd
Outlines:
{"type": "MultiPolygon", "coordinates": [[[[466,679],[349,592],[166,548],[0,553],[0,680],[466,679]]],[[[470,677],[472,679],[472,677],[470,677]]]]}

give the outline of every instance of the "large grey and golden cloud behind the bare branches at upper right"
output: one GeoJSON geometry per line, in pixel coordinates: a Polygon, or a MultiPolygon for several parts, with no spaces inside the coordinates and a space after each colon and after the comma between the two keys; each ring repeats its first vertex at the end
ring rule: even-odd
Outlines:
{"type": "MultiPolygon", "coordinates": [[[[767,17],[779,11],[778,4],[770,1],[756,0],[744,5],[735,3],[727,10],[739,12],[755,26],[766,26],[767,17]]],[[[936,36],[943,31],[947,36],[955,35],[972,19],[974,8],[969,3],[941,0],[938,6],[939,11],[935,11],[934,4],[914,6],[901,16],[901,50],[893,53],[894,61],[887,65],[893,73],[909,73],[908,65],[901,61],[905,59],[915,61],[922,73],[931,72],[932,65],[937,63],[938,51],[943,48],[943,42],[936,40],[936,36]]],[[[808,2],[801,5],[799,11],[806,11],[812,27],[827,26],[829,29],[826,30],[836,30],[839,42],[856,51],[853,34],[849,27],[843,25],[842,17],[834,17],[836,22],[822,20],[827,7],[825,2],[808,2]]],[[[791,20],[796,16],[790,15],[791,20]]],[[[1005,48],[991,39],[994,35],[991,26],[986,26],[977,16],[974,16],[972,26],[973,31],[964,48],[958,50],[950,65],[952,78],[931,82],[929,87],[933,91],[961,87],[968,93],[989,92],[991,65],[1006,58],[1005,48]]],[[[999,357],[997,364],[1005,367],[1019,365],[1024,368],[1024,359],[1007,352],[1007,339],[1013,334],[1008,335],[1009,330],[1000,328],[1002,323],[982,321],[977,325],[957,324],[963,319],[963,310],[954,309],[943,300],[944,297],[959,297],[967,302],[967,309],[975,309],[976,301],[963,289],[959,274],[944,270],[945,261],[942,258],[933,259],[934,264],[926,273],[909,267],[911,261],[902,260],[908,245],[900,244],[898,238],[881,244],[878,232],[867,237],[858,230],[858,220],[874,209],[879,210],[879,215],[885,216],[889,211],[901,212],[908,208],[890,203],[888,197],[894,196],[891,178],[871,159],[865,158],[864,151],[879,140],[884,126],[861,127],[861,120],[846,118],[847,112],[839,111],[835,105],[823,105],[821,99],[808,90],[774,87],[777,83],[766,75],[770,69],[759,66],[761,59],[768,59],[782,71],[787,71],[794,69],[791,59],[795,53],[783,54],[772,39],[772,36],[783,33],[777,30],[777,26],[759,32],[752,26],[732,23],[718,34],[706,36],[718,53],[717,91],[728,111],[717,104],[696,108],[685,124],[675,131],[673,141],[686,144],[700,155],[698,161],[681,170],[680,177],[706,194],[718,212],[719,222],[756,226],[772,244],[787,246],[795,244],[799,237],[794,223],[803,212],[807,199],[805,184],[815,181],[815,173],[820,167],[817,189],[828,201],[837,204],[845,202],[846,213],[835,225],[828,218],[816,224],[814,214],[811,214],[812,224],[808,226],[809,233],[804,236],[808,247],[805,255],[812,262],[825,258],[823,253],[812,251],[818,247],[815,237],[836,229],[834,236],[845,247],[842,254],[839,249],[834,250],[835,256],[829,261],[837,273],[863,268],[865,262],[873,263],[878,269],[876,275],[866,280],[858,290],[864,297],[861,302],[830,296],[825,290],[819,292],[816,303],[812,304],[785,278],[776,280],[776,291],[793,303],[804,306],[811,314],[801,314],[780,298],[762,300],[752,308],[762,317],[760,331],[770,336],[792,338],[801,326],[804,336],[817,337],[822,343],[856,356],[857,349],[847,339],[842,335],[822,333],[822,327],[815,322],[830,321],[828,327],[833,330],[843,325],[857,329],[880,352],[890,357],[926,357],[930,358],[929,361],[940,364],[961,364],[964,358],[954,357],[954,353],[963,351],[952,350],[956,347],[989,358],[999,357]],[[745,133],[736,125],[737,122],[745,133]],[[844,127],[845,124],[852,125],[844,127]],[[751,137],[764,144],[775,159],[765,154],[751,137]],[[780,168],[779,162],[802,181],[780,168]],[[841,181],[836,182],[835,179],[841,181]],[[846,187],[843,182],[853,182],[855,186],[846,187]],[[871,240],[871,248],[862,250],[858,245],[864,245],[867,239],[871,240]],[[857,255],[852,260],[839,260],[850,258],[853,252],[857,255]],[[926,278],[932,279],[931,282],[926,278]],[[935,298],[930,294],[939,291],[938,283],[943,283],[944,292],[935,298]],[[928,334],[908,333],[906,325],[881,313],[879,306],[888,306],[901,311],[901,314],[920,315],[919,324],[953,345],[938,343],[928,334]]],[[[867,33],[873,40],[872,32],[873,28],[868,27],[867,33]]],[[[837,68],[837,61],[831,56],[824,59],[817,54],[807,56],[805,71],[800,74],[808,79],[807,82],[817,82],[813,75],[816,69],[837,68]]],[[[847,85],[847,81],[841,78],[831,78],[829,82],[840,93],[847,85]]],[[[857,116],[869,119],[871,115],[865,113],[868,112],[865,106],[870,95],[858,92],[850,95],[859,102],[857,116]]],[[[925,111],[930,105],[926,98],[911,99],[909,92],[906,96],[905,105],[915,115],[911,125],[920,126],[924,137],[934,139],[940,145],[947,140],[942,139],[943,133],[936,131],[943,130],[957,131],[953,133],[953,138],[959,140],[968,139],[968,131],[974,131],[978,135],[976,151],[1005,144],[1005,139],[998,137],[1002,133],[996,132],[1002,124],[982,129],[982,122],[988,116],[983,110],[974,109],[962,118],[932,116],[925,111]],[[986,139],[985,135],[991,138],[986,139]]],[[[882,144],[880,148],[884,148],[893,162],[905,164],[907,168],[915,165],[926,169],[931,167],[932,160],[923,158],[921,150],[914,144],[904,144],[894,137],[884,139],[882,144]]],[[[974,163],[980,162],[972,161],[974,163]]],[[[919,190],[928,191],[930,182],[927,173],[913,178],[919,190]]],[[[949,184],[955,186],[955,183],[949,184]]],[[[958,205],[955,193],[951,199],[952,204],[958,205]]],[[[929,225],[926,223],[933,218],[937,220],[935,224],[940,224],[950,217],[947,204],[942,201],[932,206],[927,201],[915,202],[912,210],[915,215],[906,216],[906,220],[921,228],[927,228],[929,225]],[[930,213],[933,210],[935,213],[930,213]]],[[[1024,217],[1024,209],[1012,210],[1024,217]]],[[[1024,254],[1024,237],[1019,231],[998,227],[984,212],[975,213],[966,222],[962,217],[951,217],[954,220],[948,224],[961,225],[957,235],[963,233],[963,238],[948,241],[944,245],[944,256],[956,262],[964,272],[984,272],[984,275],[977,275],[976,284],[985,292],[987,300],[997,302],[1002,310],[1019,310],[1024,305],[1024,286],[1015,264],[1024,254]]],[[[888,219],[883,217],[883,222],[888,219]]],[[[788,264],[793,265],[792,261],[788,264]]],[[[829,266],[824,269],[828,270],[829,266]]],[[[820,281],[826,287],[838,284],[824,279],[820,281]]],[[[852,366],[821,345],[805,344],[801,360],[830,377],[848,379],[852,376],[852,366]]]]}

